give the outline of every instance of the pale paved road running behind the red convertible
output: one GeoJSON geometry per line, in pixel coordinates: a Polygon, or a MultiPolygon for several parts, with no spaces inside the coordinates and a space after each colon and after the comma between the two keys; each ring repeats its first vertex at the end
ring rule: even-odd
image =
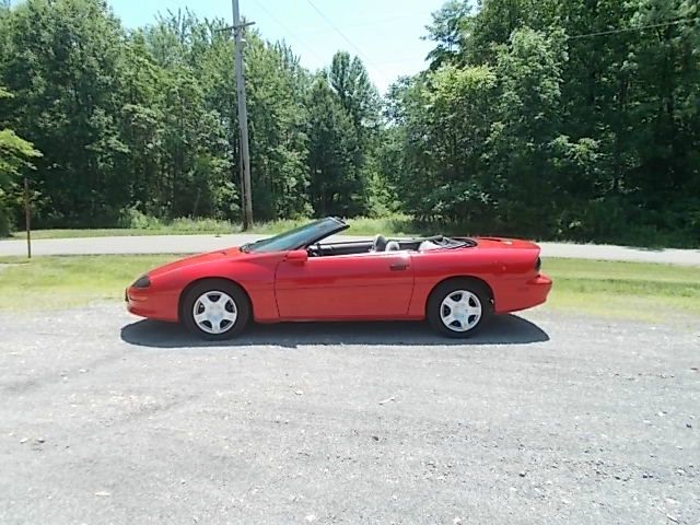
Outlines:
{"type": "MultiPolygon", "coordinates": [[[[47,238],[33,242],[33,254],[195,254],[240,246],[264,235],[154,235],[142,237],[47,238]]],[[[363,240],[370,236],[336,236],[330,240],[363,240]]],[[[669,265],[700,266],[699,249],[650,249],[625,246],[539,243],[544,257],[600,260],[630,260],[669,265]]],[[[0,257],[25,256],[26,244],[19,240],[0,241],[0,257]]]]}

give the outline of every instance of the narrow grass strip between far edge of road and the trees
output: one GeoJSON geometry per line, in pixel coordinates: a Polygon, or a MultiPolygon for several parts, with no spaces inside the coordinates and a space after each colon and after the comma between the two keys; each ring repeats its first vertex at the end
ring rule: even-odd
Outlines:
{"type": "MultiPolygon", "coordinates": [[[[292,228],[306,224],[310,219],[288,219],[254,224],[249,233],[277,234],[292,228]]],[[[353,235],[409,235],[411,234],[410,219],[405,215],[392,215],[384,219],[355,218],[349,219],[350,231],[353,235]]],[[[77,230],[35,230],[33,240],[40,238],[72,238],[72,237],[109,237],[109,236],[136,236],[136,235],[197,235],[211,234],[223,235],[241,233],[241,224],[213,219],[175,219],[163,223],[151,221],[145,228],[112,228],[112,229],[77,229],[77,230]]],[[[11,240],[22,241],[26,238],[25,232],[15,232],[11,240]]]]}

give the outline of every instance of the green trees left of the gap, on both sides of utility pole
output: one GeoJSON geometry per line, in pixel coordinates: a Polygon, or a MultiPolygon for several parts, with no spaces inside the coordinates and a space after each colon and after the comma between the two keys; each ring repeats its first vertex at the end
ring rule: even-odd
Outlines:
{"type": "MultiPolygon", "coordinates": [[[[100,0],[0,8],[0,82],[15,94],[0,127],[44,153],[28,174],[38,225],[238,218],[225,26],[187,12],[127,32],[100,0]]],[[[312,74],[284,44],[246,40],[256,219],[369,212],[381,107],[362,62],[339,52],[312,74]]]]}

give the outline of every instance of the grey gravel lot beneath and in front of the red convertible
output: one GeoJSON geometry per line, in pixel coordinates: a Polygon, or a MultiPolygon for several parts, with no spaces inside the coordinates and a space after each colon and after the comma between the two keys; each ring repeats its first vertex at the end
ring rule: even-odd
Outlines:
{"type": "Polygon", "coordinates": [[[698,524],[698,328],[2,314],[0,523],[698,524]]]}

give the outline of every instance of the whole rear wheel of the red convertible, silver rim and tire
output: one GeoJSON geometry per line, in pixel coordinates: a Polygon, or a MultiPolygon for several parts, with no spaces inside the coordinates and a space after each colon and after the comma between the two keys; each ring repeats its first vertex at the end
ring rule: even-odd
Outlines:
{"type": "Polygon", "coordinates": [[[469,337],[493,315],[490,290],[480,281],[453,279],[439,284],[428,300],[428,320],[447,337],[469,337]]]}

